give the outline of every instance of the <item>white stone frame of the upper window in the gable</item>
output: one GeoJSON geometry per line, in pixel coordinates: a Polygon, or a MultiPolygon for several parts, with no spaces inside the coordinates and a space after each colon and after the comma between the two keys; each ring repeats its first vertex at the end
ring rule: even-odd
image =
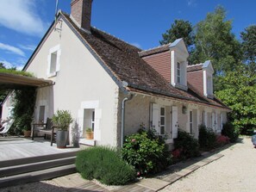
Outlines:
{"type": "Polygon", "coordinates": [[[60,63],[59,63],[59,57],[61,54],[61,49],[60,45],[54,46],[49,50],[48,58],[47,58],[47,77],[55,77],[57,75],[57,72],[59,71],[60,68],[60,63]],[[56,55],[56,63],[54,64],[55,70],[52,70],[52,59],[53,55],[56,55]]]}

